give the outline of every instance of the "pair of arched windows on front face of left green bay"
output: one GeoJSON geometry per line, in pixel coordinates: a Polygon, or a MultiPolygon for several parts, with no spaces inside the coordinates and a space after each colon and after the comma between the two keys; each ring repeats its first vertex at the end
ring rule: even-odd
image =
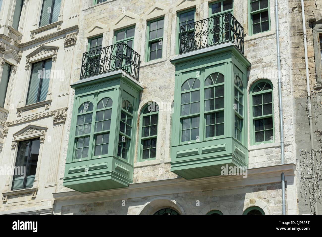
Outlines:
{"type": "Polygon", "coordinates": [[[75,160],[107,156],[112,106],[113,100],[101,95],[98,103],[87,100],[78,107],[74,135],[73,158],[75,160]]]}

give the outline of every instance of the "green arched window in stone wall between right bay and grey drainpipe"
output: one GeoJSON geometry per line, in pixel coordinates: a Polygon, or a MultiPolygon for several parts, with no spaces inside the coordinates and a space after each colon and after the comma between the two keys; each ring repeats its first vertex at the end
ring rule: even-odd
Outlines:
{"type": "Polygon", "coordinates": [[[251,145],[274,142],[273,86],[260,80],[251,87],[251,145]]]}

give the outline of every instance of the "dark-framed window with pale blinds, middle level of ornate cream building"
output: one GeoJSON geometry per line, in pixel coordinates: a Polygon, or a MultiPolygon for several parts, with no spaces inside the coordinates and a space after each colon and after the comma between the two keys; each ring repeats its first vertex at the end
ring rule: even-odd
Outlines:
{"type": "Polygon", "coordinates": [[[26,105],[46,100],[51,70],[52,59],[33,63],[26,105]]]}

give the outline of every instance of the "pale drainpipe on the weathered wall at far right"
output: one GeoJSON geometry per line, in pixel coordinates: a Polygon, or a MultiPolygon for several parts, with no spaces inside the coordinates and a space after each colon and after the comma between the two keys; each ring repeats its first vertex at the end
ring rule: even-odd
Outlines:
{"type": "MultiPolygon", "coordinates": [[[[314,149],[314,140],[313,140],[313,124],[312,124],[312,110],[311,110],[311,93],[310,93],[310,80],[308,74],[308,45],[307,45],[307,36],[306,36],[306,25],[305,25],[305,12],[304,12],[304,1],[301,0],[302,6],[302,24],[303,24],[303,37],[304,37],[304,54],[305,54],[305,72],[306,72],[306,88],[308,92],[308,124],[310,128],[310,142],[311,142],[311,153],[314,149]]],[[[314,166],[312,175],[314,174],[314,166]]],[[[314,185],[314,179],[313,179],[314,185]]],[[[314,196],[316,194],[313,194],[314,196]]],[[[317,214],[317,205],[315,204],[315,214],[317,214]]]]}

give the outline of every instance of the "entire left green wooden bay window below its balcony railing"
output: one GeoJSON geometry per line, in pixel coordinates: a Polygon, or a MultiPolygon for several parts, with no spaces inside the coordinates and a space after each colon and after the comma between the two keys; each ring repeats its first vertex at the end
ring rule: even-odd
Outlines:
{"type": "Polygon", "coordinates": [[[75,89],[64,186],[80,192],[127,187],[133,164],[139,93],[122,73],[80,80],[75,89]]]}

